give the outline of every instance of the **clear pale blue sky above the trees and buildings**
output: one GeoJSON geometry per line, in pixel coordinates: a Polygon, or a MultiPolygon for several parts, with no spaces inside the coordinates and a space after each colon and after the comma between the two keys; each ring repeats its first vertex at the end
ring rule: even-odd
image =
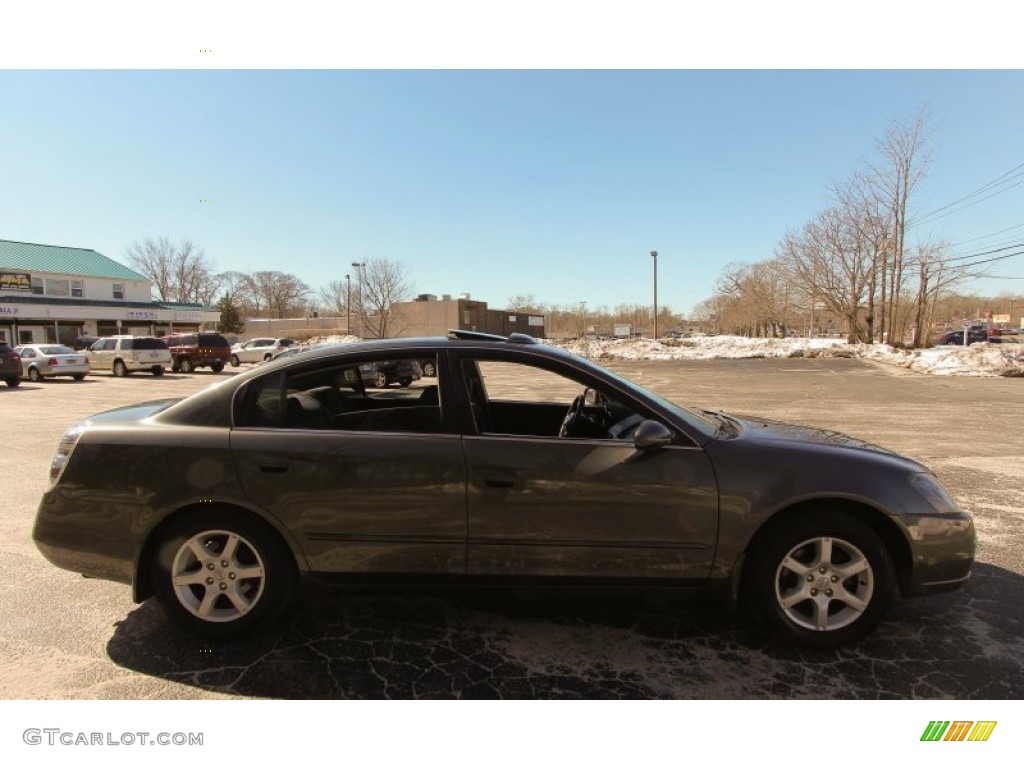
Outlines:
{"type": "MultiPolygon", "coordinates": [[[[312,288],[369,257],[424,293],[689,311],[930,111],[930,211],[1024,163],[1016,71],[0,71],[0,238],[189,238],[312,288]],[[201,201],[210,200],[205,203],[201,201]]],[[[1024,242],[1024,186],[913,236],[1024,242]],[[1013,240],[1016,237],[1016,240],[1013,240]],[[1008,241],[1008,238],[1010,241],[1008,241]]],[[[1024,276],[1024,257],[993,268],[1024,276]]],[[[981,293],[1024,293],[988,281],[981,293]]]]}

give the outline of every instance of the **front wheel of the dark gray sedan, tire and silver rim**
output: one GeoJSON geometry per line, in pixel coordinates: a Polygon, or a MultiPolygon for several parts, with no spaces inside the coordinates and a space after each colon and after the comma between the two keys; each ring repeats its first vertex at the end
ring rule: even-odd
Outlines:
{"type": "Polygon", "coordinates": [[[780,639],[826,648],[874,629],[895,593],[892,558],[879,535],[824,508],[767,530],[744,583],[755,616],[780,639]]]}

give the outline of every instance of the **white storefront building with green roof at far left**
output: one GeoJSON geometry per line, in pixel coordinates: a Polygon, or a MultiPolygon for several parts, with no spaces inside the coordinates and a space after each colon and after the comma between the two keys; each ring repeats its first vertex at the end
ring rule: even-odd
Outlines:
{"type": "Polygon", "coordinates": [[[200,304],[154,301],[148,278],[92,249],[0,240],[0,340],[157,336],[218,319],[200,304]]]}

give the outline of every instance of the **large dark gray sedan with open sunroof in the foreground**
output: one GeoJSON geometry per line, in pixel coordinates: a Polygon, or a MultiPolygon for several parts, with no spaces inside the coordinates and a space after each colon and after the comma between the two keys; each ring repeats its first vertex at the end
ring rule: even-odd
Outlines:
{"type": "MultiPolygon", "coordinates": [[[[433,381],[433,380],[431,380],[433,381]]],[[[855,438],[670,402],[527,336],[346,344],[72,425],[34,538],[205,635],[272,624],[300,573],[713,593],[835,646],[955,589],[971,517],[855,438]],[[430,360],[436,383],[367,386],[430,360]]]]}

